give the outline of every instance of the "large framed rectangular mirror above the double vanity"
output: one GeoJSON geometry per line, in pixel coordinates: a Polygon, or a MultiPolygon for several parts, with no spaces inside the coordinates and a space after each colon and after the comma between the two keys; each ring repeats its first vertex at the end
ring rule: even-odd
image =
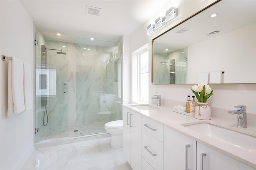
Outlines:
{"type": "Polygon", "coordinates": [[[152,39],[152,84],[256,83],[255,64],[255,0],[220,0],[152,39]]]}

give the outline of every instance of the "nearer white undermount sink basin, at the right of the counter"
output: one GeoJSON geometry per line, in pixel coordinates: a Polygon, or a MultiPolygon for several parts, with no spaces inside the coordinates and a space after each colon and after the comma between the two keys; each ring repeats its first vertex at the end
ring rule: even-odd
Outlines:
{"type": "Polygon", "coordinates": [[[197,131],[205,136],[217,139],[223,143],[228,143],[239,149],[250,152],[256,151],[256,137],[246,135],[231,129],[226,129],[211,123],[197,123],[193,125],[183,125],[189,129],[197,131]]]}

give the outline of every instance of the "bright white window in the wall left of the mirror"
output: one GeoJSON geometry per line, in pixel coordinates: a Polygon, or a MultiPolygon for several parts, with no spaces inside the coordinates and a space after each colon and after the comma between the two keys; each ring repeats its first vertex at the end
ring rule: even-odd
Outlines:
{"type": "Polygon", "coordinates": [[[148,44],[132,53],[132,102],[148,103],[148,44]]]}

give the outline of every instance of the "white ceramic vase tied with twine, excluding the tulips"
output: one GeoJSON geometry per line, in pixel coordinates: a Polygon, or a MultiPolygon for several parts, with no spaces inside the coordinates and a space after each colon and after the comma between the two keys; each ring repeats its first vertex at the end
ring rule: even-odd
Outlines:
{"type": "Polygon", "coordinates": [[[194,117],[201,120],[210,120],[211,119],[211,108],[208,106],[208,103],[198,102],[195,107],[194,117]]]}

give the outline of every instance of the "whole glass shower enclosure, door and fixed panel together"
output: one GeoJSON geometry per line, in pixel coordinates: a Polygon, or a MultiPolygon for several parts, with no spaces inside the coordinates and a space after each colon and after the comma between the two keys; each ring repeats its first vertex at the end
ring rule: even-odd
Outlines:
{"type": "Polygon", "coordinates": [[[92,44],[35,37],[37,142],[106,133],[105,123],[122,119],[122,38],[92,44]]]}

